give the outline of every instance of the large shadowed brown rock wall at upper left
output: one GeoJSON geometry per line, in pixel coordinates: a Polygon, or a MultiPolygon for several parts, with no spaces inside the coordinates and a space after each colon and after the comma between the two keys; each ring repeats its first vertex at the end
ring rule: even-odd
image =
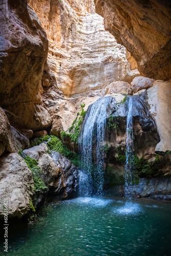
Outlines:
{"type": "Polygon", "coordinates": [[[46,32],[27,1],[19,0],[1,1],[1,32],[1,106],[18,117],[20,128],[47,127],[50,116],[41,98],[46,32]]]}

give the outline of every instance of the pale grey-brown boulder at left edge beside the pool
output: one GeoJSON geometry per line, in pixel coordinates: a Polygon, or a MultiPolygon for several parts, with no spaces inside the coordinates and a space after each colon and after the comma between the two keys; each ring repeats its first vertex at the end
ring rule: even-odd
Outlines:
{"type": "Polygon", "coordinates": [[[0,160],[0,211],[4,212],[4,198],[8,198],[9,217],[27,214],[33,196],[33,176],[26,162],[17,153],[0,160]]]}

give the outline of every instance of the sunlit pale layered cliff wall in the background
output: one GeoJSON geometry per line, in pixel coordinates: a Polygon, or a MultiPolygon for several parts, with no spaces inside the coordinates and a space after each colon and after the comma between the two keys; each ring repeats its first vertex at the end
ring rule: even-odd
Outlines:
{"type": "Polygon", "coordinates": [[[93,1],[30,0],[29,4],[47,32],[49,67],[67,97],[99,92],[117,80],[131,82],[139,74],[130,70],[125,48],[104,30],[93,1]]]}

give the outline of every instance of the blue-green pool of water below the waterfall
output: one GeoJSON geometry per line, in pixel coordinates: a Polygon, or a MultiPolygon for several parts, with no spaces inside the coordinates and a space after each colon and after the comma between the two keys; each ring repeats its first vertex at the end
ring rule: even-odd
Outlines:
{"type": "Polygon", "coordinates": [[[44,207],[1,255],[171,255],[171,204],[77,198],[44,207]]]}

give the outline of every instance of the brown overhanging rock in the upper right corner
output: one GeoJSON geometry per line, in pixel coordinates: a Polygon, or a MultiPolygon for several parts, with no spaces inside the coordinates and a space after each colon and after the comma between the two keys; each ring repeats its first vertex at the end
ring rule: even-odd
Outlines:
{"type": "Polygon", "coordinates": [[[141,75],[171,78],[169,1],[94,0],[104,28],[131,53],[141,75]]]}

